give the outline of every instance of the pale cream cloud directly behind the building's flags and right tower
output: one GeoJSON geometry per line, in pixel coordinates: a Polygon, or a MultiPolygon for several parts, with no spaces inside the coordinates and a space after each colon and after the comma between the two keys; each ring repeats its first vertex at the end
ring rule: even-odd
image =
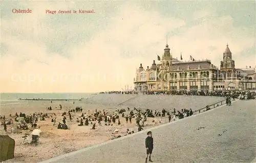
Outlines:
{"type": "MultiPolygon", "coordinates": [[[[233,19],[230,16],[223,16],[211,18],[199,25],[184,29],[182,33],[170,38],[171,45],[174,47],[173,56],[182,52],[186,60],[189,59],[189,55],[192,55],[195,59],[211,59],[215,65],[219,66],[219,61],[228,43],[233,59],[238,61],[243,55],[241,52],[254,45],[254,37],[249,35],[252,29],[241,30],[233,27],[232,24],[233,19]],[[212,49],[212,46],[215,48],[212,49]]],[[[250,57],[255,56],[251,54],[250,57]]],[[[245,62],[239,62],[238,66],[243,65],[245,62]]]]}

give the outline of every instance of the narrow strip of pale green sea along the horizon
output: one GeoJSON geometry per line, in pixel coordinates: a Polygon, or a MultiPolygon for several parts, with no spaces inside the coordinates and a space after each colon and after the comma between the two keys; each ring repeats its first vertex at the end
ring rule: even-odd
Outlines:
{"type": "Polygon", "coordinates": [[[0,93],[0,103],[18,102],[18,99],[80,99],[97,93],[0,93]]]}

